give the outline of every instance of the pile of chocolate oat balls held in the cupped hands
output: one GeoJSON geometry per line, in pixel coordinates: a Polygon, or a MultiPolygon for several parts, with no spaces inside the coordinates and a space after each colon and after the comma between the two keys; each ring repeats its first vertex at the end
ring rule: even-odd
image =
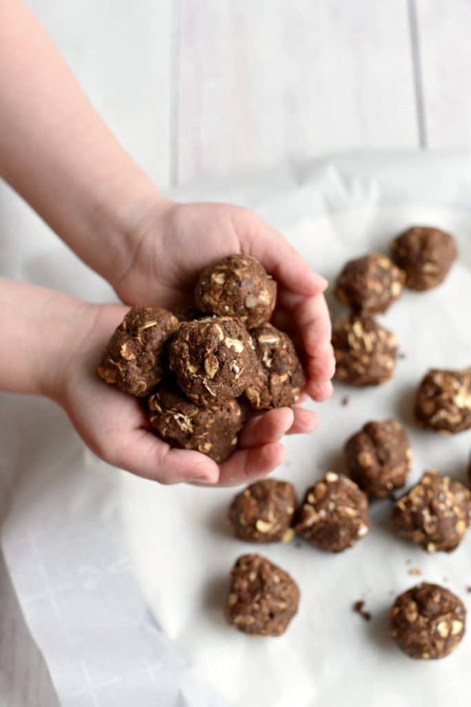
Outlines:
{"type": "Polygon", "coordinates": [[[224,462],[246,417],[241,402],[256,410],[291,406],[306,382],[290,337],[269,323],[276,289],[248,255],[210,264],[196,285],[196,307],[133,307],[98,375],[147,398],[150,424],[169,445],[224,462]]]}

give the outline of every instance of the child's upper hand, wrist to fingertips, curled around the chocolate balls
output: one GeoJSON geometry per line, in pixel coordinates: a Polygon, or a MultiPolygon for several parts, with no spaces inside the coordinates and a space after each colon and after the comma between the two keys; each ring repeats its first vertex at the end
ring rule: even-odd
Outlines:
{"type": "Polygon", "coordinates": [[[225,204],[159,201],[130,243],[129,262],[112,281],[129,304],[171,308],[191,300],[198,274],[211,261],[234,252],[258,258],[278,282],[275,324],[292,335],[304,355],[305,392],[318,401],[330,396],[334,358],[322,295],[327,283],[256,214],[225,204]]]}

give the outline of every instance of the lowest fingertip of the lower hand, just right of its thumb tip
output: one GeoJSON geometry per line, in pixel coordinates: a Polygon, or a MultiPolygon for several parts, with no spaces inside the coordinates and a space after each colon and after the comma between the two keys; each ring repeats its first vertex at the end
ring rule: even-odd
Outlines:
{"type": "Polygon", "coordinates": [[[286,450],[279,442],[238,450],[221,464],[218,486],[251,484],[263,479],[285,459],[286,450]]]}

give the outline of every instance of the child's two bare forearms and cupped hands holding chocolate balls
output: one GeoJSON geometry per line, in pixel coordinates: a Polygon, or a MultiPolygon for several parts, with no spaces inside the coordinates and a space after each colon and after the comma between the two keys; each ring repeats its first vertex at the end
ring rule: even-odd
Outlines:
{"type": "MultiPolygon", "coordinates": [[[[198,273],[211,260],[239,251],[257,257],[278,281],[274,321],[304,354],[307,394],[328,397],[334,362],[322,296],[326,282],[255,214],[160,198],[97,117],[27,6],[4,1],[1,9],[0,174],[129,304],[171,307],[191,296],[198,273]],[[24,47],[31,44],[35,52],[28,54],[24,47]]],[[[148,431],[140,404],[96,375],[124,308],[93,308],[59,293],[27,289],[3,285],[9,310],[1,300],[0,389],[54,397],[85,442],[117,466],[167,483],[238,483],[280,463],[283,433],[315,426],[314,413],[300,408],[254,416],[240,449],[220,470],[198,452],[170,450],[148,431]],[[19,318],[18,298],[24,305],[19,318]],[[83,326],[71,310],[81,312],[83,326]]]]}

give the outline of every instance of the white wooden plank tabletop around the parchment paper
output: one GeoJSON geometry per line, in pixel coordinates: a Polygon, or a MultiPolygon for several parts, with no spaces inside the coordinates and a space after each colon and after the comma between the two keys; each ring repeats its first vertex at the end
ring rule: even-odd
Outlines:
{"type": "MultiPolygon", "coordinates": [[[[471,147],[470,0],[29,2],[161,187],[334,151],[471,147]]],[[[56,699],[0,562],[0,706],[30,705],[56,699]]]]}

